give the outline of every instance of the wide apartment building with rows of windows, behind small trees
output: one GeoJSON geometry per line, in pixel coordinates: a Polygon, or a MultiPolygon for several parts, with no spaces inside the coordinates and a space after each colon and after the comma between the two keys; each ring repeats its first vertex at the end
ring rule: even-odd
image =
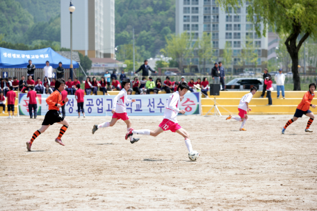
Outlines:
{"type": "MultiPolygon", "coordinates": [[[[263,29],[263,24],[261,24],[263,29]]],[[[215,0],[176,0],[176,34],[187,32],[197,40],[204,32],[211,33],[211,42],[215,50],[215,56],[222,60],[222,53],[226,43],[231,46],[233,56],[232,65],[223,64],[227,72],[238,74],[243,71],[261,72],[266,67],[268,57],[268,35],[258,37],[254,26],[247,20],[247,5],[241,8],[228,8],[222,10],[215,0]],[[258,53],[257,65],[245,62],[241,65],[239,54],[243,49],[246,37],[252,38],[254,48],[258,53]]],[[[199,59],[191,58],[191,63],[196,65],[198,71],[199,59]]],[[[209,60],[206,69],[200,72],[210,72],[213,61],[209,60]]]]}

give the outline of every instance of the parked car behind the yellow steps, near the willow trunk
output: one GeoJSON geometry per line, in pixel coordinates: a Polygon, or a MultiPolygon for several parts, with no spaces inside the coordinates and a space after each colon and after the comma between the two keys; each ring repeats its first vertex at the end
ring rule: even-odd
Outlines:
{"type": "MultiPolygon", "coordinates": [[[[251,87],[257,87],[258,90],[263,90],[264,80],[262,78],[235,78],[226,84],[226,90],[229,91],[244,91],[250,90],[251,87]]],[[[273,83],[274,90],[277,89],[273,83]]]]}

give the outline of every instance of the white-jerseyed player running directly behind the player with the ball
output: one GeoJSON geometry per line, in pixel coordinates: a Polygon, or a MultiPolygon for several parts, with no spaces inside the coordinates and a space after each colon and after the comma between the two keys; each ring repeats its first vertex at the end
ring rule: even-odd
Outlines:
{"type": "MultiPolygon", "coordinates": [[[[122,119],[127,124],[127,130],[128,132],[133,130],[131,127],[131,121],[129,120],[129,117],[127,115],[126,105],[125,103],[131,103],[135,102],[135,99],[128,99],[127,91],[130,89],[130,79],[124,79],[122,81],[122,87],[123,89],[115,96],[115,99],[113,99],[113,110],[111,112],[113,113],[113,117],[110,122],[104,122],[99,125],[95,124],[92,128],[92,134],[94,134],[99,128],[106,128],[106,127],[112,127],[115,125],[118,119],[122,119]]],[[[127,139],[126,139],[127,140],[127,139]]],[[[130,142],[133,144],[134,142],[138,142],[140,140],[139,138],[133,138],[130,137],[130,142]]]]}

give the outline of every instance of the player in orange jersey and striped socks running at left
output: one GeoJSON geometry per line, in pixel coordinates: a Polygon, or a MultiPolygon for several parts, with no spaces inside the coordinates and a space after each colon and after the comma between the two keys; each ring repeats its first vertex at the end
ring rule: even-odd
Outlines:
{"type": "Polygon", "coordinates": [[[63,78],[57,79],[57,81],[55,82],[55,88],[55,92],[49,95],[46,100],[47,105],[49,105],[49,111],[44,117],[42,128],[36,130],[35,133],[33,133],[31,140],[29,142],[26,142],[26,149],[28,149],[28,151],[31,151],[31,146],[35,138],[37,138],[41,133],[44,133],[44,131],[47,130],[47,128],[49,128],[49,126],[53,125],[54,123],[63,124],[63,126],[60,128],[60,133],[58,137],[56,137],[55,139],[55,142],[65,146],[65,144],[63,144],[62,140],[60,139],[62,138],[70,124],[68,124],[65,116],[61,115],[59,111],[60,107],[65,105],[65,103],[68,101],[67,97],[65,98],[65,100],[62,101],[62,94],[60,94],[60,92],[62,92],[65,88],[65,81],[63,78]]]}

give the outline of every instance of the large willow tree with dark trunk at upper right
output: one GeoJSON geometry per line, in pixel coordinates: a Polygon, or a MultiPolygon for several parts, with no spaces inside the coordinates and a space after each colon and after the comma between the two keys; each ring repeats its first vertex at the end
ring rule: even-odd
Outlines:
{"type": "MultiPolygon", "coordinates": [[[[242,0],[218,0],[224,8],[239,7],[242,0]]],[[[317,37],[317,1],[316,0],[254,0],[247,7],[250,20],[256,24],[258,35],[266,35],[268,27],[275,28],[279,35],[285,34],[284,44],[292,59],[294,90],[300,90],[300,75],[298,73],[298,53],[302,43],[311,36],[317,37]],[[261,29],[263,23],[263,30],[261,29]]]]}

